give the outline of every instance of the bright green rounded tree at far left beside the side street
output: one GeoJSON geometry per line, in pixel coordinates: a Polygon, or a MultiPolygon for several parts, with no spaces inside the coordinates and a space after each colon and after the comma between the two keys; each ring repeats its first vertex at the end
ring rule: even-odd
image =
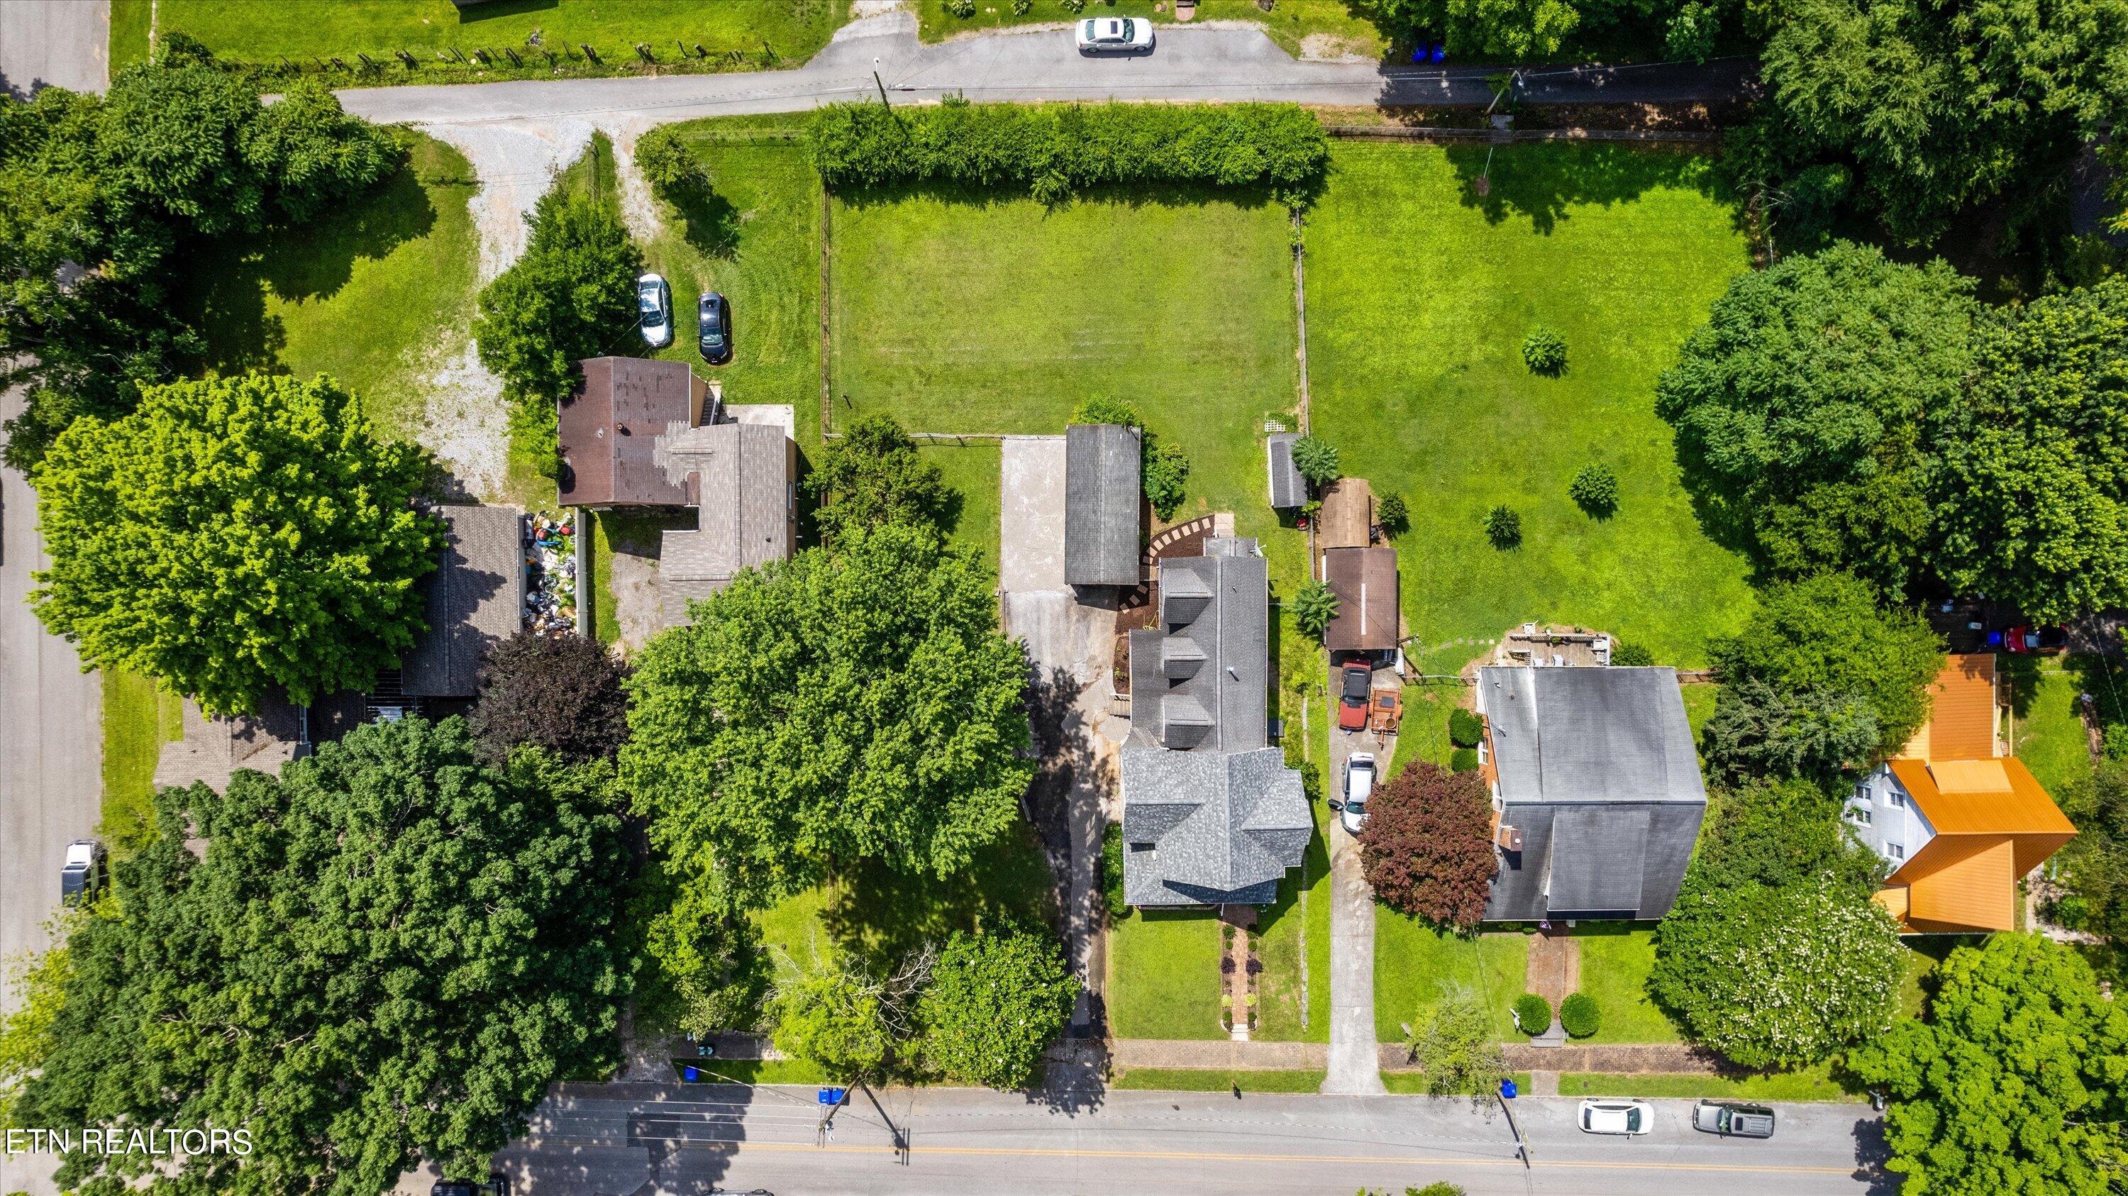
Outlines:
{"type": "Polygon", "coordinates": [[[51,568],[30,596],[96,668],[132,668],[206,711],[362,690],[421,628],[436,519],[423,458],[381,441],[330,379],[153,387],[68,428],[38,472],[51,568]]]}

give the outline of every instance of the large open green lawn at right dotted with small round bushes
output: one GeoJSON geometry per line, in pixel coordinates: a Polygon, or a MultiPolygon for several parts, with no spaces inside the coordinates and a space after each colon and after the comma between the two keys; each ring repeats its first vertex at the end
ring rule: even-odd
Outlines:
{"type": "Polygon", "coordinates": [[[1396,545],[1417,636],[1407,651],[1445,672],[1473,643],[1549,619],[1670,664],[1705,662],[1707,638],[1745,619],[1751,589],[1745,562],[1692,515],[1653,383],[1749,268],[1709,160],[1336,143],[1332,162],[1307,232],[1313,428],[1345,472],[1409,500],[1396,545]],[[1522,364],[1539,323],[1566,336],[1564,377],[1522,364]],[[1590,462],[1619,477],[1611,519],[1566,498],[1590,462]],[[1500,502],[1522,515],[1515,551],[1479,528],[1500,502]]]}

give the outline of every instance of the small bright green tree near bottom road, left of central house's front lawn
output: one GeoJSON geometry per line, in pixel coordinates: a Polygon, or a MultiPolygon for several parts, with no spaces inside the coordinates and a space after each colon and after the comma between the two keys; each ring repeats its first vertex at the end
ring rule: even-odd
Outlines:
{"type": "Polygon", "coordinates": [[[947,1079],[1017,1087],[1038,1079],[1077,998],[1053,936],[955,932],[917,1004],[924,1056],[947,1079]]]}

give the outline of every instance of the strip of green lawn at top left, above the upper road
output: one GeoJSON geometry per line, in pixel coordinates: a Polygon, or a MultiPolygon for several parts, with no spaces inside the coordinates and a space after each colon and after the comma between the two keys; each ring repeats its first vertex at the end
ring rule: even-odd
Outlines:
{"type": "MultiPolygon", "coordinates": [[[[145,6],[145,2],[143,2],[145,6]]],[[[777,53],[804,60],[849,19],[849,0],[500,0],[458,9],[451,0],[157,0],[157,28],[187,32],[223,57],[272,62],[355,53],[389,57],[404,49],[434,62],[440,49],[502,51],[526,47],[538,30],[560,49],[592,43],[611,62],[632,62],[649,43],[660,60],[675,38],[711,53],[777,53]]],[[[113,21],[115,23],[115,21],[113,21]]]]}

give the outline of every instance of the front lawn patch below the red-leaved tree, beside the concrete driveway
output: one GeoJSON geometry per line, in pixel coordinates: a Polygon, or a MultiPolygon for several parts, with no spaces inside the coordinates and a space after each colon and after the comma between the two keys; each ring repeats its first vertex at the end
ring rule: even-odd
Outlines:
{"type": "Polygon", "coordinates": [[[1502,1041],[1522,1041],[1509,1004],[1528,977],[1528,936],[1519,932],[1462,938],[1375,904],[1375,1036],[1400,1043],[1404,1024],[1449,987],[1477,994],[1502,1041]]]}

